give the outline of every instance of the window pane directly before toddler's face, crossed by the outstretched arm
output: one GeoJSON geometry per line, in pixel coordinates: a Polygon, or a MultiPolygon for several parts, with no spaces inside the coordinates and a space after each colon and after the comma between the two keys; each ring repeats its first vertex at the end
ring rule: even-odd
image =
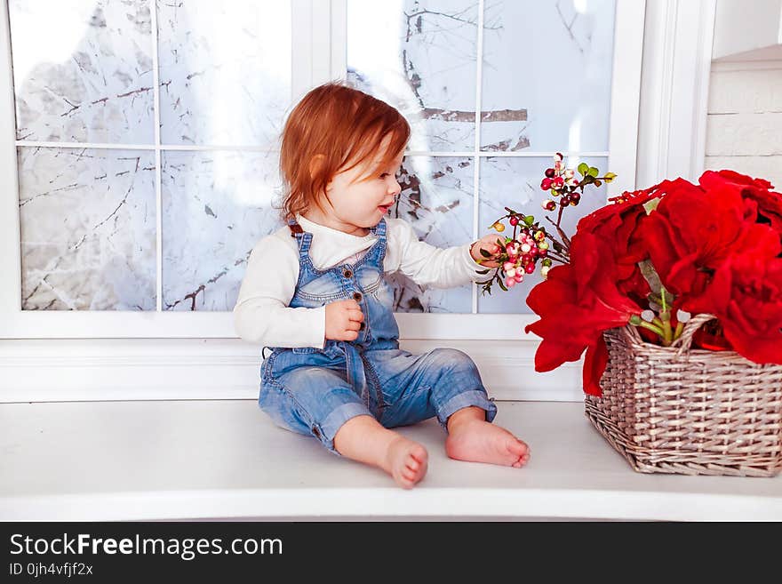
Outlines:
{"type": "MultiPolygon", "coordinates": [[[[407,156],[399,183],[402,193],[389,213],[411,223],[419,240],[437,247],[473,241],[473,158],[407,156]]],[[[396,274],[396,312],[472,312],[472,284],[448,290],[422,290],[396,274]]]]}

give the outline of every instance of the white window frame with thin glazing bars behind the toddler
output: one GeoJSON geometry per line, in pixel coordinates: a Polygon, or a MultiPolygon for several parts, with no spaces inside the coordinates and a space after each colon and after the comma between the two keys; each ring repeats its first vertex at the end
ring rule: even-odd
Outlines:
{"type": "MultiPolygon", "coordinates": [[[[154,0],[153,0],[154,1],[154,0]]],[[[0,339],[226,339],[235,338],[230,312],[161,311],[161,229],[160,229],[160,151],[162,149],[239,149],[235,147],[170,147],[160,144],[159,124],[156,124],[156,167],[158,205],[158,310],[151,311],[39,311],[21,309],[21,265],[19,226],[19,185],[15,111],[13,103],[12,62],[8,6],[0,2],[0,176],[4,188],[0,195],[0,339]]],[[[479,0],[478,51],[483,46],[483,0],[479,0]]],[[[610,142],[604,152],[565,152],[565,156],[608,156],[608,167],[618,174],[606,196],[635,188],[638,116],[641,92],[642,38],[645,2],[618,0],[610,107],[610,142]]],[[[292,43],[292,98],[298,100],[310,87],[344,76],[346,0],[292,0],[294,35],[292,43]],[[323,26],[328,23],[329,26],[323,26]],[[300,36],[299,36],[300,35],[300,36]]],[[[156,43],[156,11],[153,11],[153,38],[156,43]]],[[[159,86],[157,84],[157,53],[154,52],[155,105],[158,116],[159,86]]],[[[477,64],[476,112],[481,103],[481,60],[477,64]]],[[[477,113],[476,113],[477,117],[477,113]]],[[[553,156],[554,152],[497,153],[481,152],[479,131],[475,151],[467,153],[427,153],[441,156],[553,156]]],[[[25,144],[30,145],[29,142],[25,144]]],[[[43,144],[43,143],[42,143],[43,144]]],[[[63,147],[63,144],[47,144],[63,147]]],[[[105,148],[101,144],[79,144],[80,148],[105,148]]],[[[127,145],[109,145],[129,148],[127,145]]],[[[153,149],[144,147],[144,149],[153,149]]],[[[259,148],[241,148],[258,150],[259,148]]],[[[415,153],[418,154],[418,153],[415,153]]],[[[480,164],[476,164],[475,191],[480,180],[480,164]]],[[[475,197],[474,236],[479,235],[478,199],[475,197]]],[[[537,320],[535,315],[475,314],[477,287],[473,293],[474,314],[410,314],[397,313],[403,338],[438,340],[506,340],[523,336],[526,324],[537,320]]]]}

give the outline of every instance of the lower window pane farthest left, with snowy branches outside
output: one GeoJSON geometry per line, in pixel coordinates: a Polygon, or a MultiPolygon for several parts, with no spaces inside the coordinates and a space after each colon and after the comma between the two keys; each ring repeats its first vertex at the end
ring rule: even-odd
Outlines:
{"type": "Polygon", "coordinates": [[[22,309],[155,310],[155,155],[19,148],[22,309]]]}

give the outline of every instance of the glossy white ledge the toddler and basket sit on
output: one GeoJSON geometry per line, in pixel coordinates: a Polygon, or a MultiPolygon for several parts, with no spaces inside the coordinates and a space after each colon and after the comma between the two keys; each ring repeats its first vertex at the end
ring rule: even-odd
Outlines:
{"type": "Polygon", "coordinates": [[[254,400],[0,404],[0,520],[782,520],[782,476],[642,475],[580,403],[502,402],[526,468],[448,459],[434,420],[411,491],[276,428],[254,400]]]}

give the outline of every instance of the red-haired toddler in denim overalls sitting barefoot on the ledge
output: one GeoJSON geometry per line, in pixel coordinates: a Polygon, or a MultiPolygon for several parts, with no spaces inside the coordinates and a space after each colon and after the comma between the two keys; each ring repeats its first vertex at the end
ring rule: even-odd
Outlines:
{"type": "Polygon", "coordinates": [[[497,236],[441,249],[387,217],[410,126],[387,103],[343,84],[315,88],[283,129],[288,226],[253,248],[234,308],[243,340],[270,349],[259,405],[283,428],[382,468],[411,488],[427,450],[388,429],[434,416],[452,459],[522,467],[527,444],[491,424],[497,406],[473,361],[437,348],[400,350],[387,274],[422,286],[474,282],[497,236]]]}

